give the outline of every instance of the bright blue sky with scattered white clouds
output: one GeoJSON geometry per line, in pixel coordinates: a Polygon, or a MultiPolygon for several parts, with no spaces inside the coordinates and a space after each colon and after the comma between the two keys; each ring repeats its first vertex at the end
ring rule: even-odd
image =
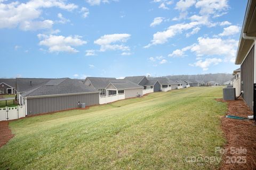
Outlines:
{"type": "Polygon", "coordinates": [[[0,77],[231,73],[246,3],[0,0],[0,77]]]}

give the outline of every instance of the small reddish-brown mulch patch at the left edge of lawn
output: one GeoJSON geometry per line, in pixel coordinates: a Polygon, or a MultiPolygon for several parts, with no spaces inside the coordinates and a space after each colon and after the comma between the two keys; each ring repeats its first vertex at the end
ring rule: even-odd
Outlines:
{"type": "Polygon", "coordinates": [[[8,124],[9,122],[7,121],[0,122],[0,148],[14,136],[12,131],[9,129],[8,124]]]}

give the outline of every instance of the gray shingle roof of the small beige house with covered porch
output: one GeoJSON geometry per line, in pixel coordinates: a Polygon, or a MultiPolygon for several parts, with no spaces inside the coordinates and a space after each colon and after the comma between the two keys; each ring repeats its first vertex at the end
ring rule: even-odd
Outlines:
{"type": "Polygon", "coordinates": [[[109,83],[113,84],[117,89],[143,88],[142,86],[125,79],[110,80],[109,83]]]}

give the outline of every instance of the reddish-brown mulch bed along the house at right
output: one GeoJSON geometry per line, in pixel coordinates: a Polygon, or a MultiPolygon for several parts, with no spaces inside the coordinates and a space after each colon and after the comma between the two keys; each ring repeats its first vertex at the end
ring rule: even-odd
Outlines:
{"type": "MultiPolygon", "coordinates": [[[[253,115],[242,98],[227,102],[227,115],[247,117],[253,115]]],[[[256,124],[254,120],[235,120],[222,117],[221,128],[225,134],[226,151],[220,169],[256,169],[256,124]],[[243,149],[243,150],[242,150],[243,149]],[[233,152],[233,151],[236,152],[233,152]]]]}

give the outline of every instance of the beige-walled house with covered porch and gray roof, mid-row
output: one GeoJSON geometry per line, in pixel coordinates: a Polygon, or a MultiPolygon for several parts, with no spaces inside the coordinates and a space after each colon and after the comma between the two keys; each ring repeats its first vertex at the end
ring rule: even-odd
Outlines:
{"type": "Polygon", "coordinates": [[[124,94],[125,99],[143,96],[142,90],[142,86],[124,79],[109,80],[109,84],[106,87],[107,96],[124,94]]]}

